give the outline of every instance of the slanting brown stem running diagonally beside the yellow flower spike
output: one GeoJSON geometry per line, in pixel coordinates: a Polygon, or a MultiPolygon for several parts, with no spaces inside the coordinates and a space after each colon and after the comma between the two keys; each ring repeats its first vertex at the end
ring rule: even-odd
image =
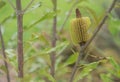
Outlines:
{"type": "Polygon", "coordinates": [[[100,24],[98,25],[97,29],[96,29],[95,32],[93,33],[93,36],[91,37],[91,39],[85,44],[85,46],[83,46],[83,47],[81,48],[80,54],[79,54],[78,59],[77,59],[75,65],[74,65],[74,68],[73,68],[72,74],[71,74],[71,76],[70,76],[69,82],[73,82],[74,75],[75,75],[75,72],[76,72],[76,70],[77,70],[77,66],[78,66],[78,64],[79,64],[79,61],[81,60],[81,57],[82,57],[83,55],[85,55],[84,52],[85,52],[86,48],[87,48],[87,47],[89,46],[89,44],[93,41],[93,39],[95,38],[95,36],[97,35],[97,33],[98,33],[98,32],[100,31],[100,29],[102,28],[102,25],[105,23],[106,19],[108,18],[108,14],[109,14],[109,13],[112,11],[112,9],[114,8],[116,1],[117,1],[117,0],[114,0],[114,1],[112,2],[111,6],[110,6],[110,8],[107,10],[104,18],[102,19],[102,21],[101,21],[100,24]]]}

